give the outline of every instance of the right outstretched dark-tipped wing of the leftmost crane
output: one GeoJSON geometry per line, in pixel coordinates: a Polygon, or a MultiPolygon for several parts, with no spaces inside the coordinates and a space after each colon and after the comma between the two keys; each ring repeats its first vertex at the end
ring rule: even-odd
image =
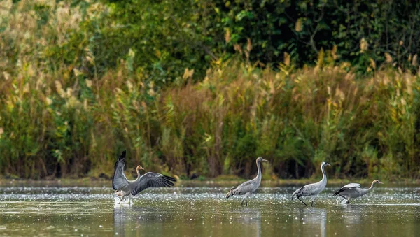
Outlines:
{"type": "Polygon", "coordinates": [[[161,173],[148,172],[142,175],[139,180],[133,182],[132,195],[135,196],[148,187],[172,187],[175,185],[174,182],[176,182],[175,178],[161,173]]]}

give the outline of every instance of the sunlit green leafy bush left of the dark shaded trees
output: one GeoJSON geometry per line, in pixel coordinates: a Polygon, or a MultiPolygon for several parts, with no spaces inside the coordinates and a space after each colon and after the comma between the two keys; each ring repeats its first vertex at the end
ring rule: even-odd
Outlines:
{"type": "Polygon", "coordinates": [[[213,52],[202,34],[200,8],[195,1],[110,1],[104,22],[92,22],[92,52],[105,71],[116,66],[129,50],[135,52],[134,69],[146,71],[146,79],[158,86],[182,82],[190,67],[204,76],[213,52]],[[97,24],[97,25],[96,25],[97,24]],[[104,50],[109,45],[109,50],[104,50]]]}

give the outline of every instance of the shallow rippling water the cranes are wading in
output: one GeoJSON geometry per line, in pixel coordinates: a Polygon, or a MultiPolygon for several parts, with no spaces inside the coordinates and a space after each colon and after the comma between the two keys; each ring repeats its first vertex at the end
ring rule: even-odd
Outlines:
{"type": "MultiPolygon", "coordinates": [[[[229,187],[185,184],[147,189],[132,206],[116,205],[112,189],[65,185],[0,185],[0,236],[416,236],[420,186],[387,187],[351,205],[328,188],[314,207],[290,201],[298,187],[262,185],[241,207],[229,187]],[[198,186],[198,187],[197,187],[198,186]],[[269,187],[271,186],[271,187],[269,187]]],[[[310,203],[309,199],[304,199],[310,203]]]]}

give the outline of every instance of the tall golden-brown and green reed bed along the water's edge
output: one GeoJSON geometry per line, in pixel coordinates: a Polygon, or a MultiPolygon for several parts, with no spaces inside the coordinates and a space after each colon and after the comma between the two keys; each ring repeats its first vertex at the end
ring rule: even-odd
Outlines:
{"type": "Polygon", "coordinates": [[[288,57],[274,66],[234,57],[199,82],[185,69],[159,87],[133,69],[131,50],[97,70],[83,20],[100,22],[102,4],[1,5],[3,177],[110,177],[127,149],[129,168],[181,178],[249,177],[256,157],[270,161],[267,179],[307,178],[321,161],[334,178],[420,178],[420,76],[392,58],[360,75],[334,51],[299,69],[288,57]]]}

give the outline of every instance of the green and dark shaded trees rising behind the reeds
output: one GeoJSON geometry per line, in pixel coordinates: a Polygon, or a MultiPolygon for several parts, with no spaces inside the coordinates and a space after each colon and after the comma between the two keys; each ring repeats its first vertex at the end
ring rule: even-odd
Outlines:
{"type": "MultiPolygon", "coordinates": [[[[104,0],[105,1],[105,0],[104,0]]],[[[235,53],[251,62],[314,64],[323,50],[369,73],[372,62],[407,61],[420,44],[420,10],[415,1],[105,1],[105,24],[93,27],[93,52],[102,65],[115,65],[132,49],[135,65],[157,85],[182,82],[183,69],[204,76],[209,64],[235,53]],[[110,27],[111,26],[111,27],[110,27]],[[103,50],[103,45],[112,45],[103,50]],[[386,57],[388,54],[389,57],[386,57]]]]}

